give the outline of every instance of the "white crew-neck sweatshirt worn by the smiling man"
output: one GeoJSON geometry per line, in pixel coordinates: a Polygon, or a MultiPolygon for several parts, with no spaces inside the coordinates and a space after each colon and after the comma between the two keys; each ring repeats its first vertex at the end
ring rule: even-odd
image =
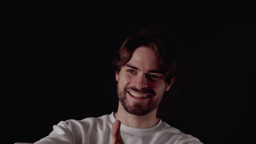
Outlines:
{"type": "MultiPolygon", "coordinates": [[[[111,144],[114,122],[114,112],[99,118],[60,121],[48,136],[35,144],[111,144]]],[[[161,120],[152,128],[131,128],[121,124],[120,131],[125,144],[203,144],[161,120]]]]}

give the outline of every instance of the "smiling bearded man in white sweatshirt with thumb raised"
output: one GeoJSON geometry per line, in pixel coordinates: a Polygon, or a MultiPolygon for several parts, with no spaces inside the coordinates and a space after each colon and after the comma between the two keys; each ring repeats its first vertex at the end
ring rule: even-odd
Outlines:
{"type": "Polygon", "coordinates": [[[202,144],[156,117],[175,80],[173,46],[148,32],[129,36],[113,62],[118,111],[99,118],[61,121],[35,144],[202,144]]]}

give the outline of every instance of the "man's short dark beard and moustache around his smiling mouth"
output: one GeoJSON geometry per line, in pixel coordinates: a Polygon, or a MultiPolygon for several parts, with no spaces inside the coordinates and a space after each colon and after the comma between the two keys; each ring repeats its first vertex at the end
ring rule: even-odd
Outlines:
{"type": "Polygon", "coordinates": [[[141,90],[138,90],[135,87],[125,87],[124,90],[122,91],[121,88],[119,88],[119,86],[117,86],[118,99],[121,102],[123,108],[128,113],[130,113],[132,115],[137,115],[137,116],[148,115],[150,112],[157,109],[161,100],[162,100],[162,98],[163,98],[163,96],[164,96],[164,92],[162,92],[160,95],[158,95],[158,98],[154,98],[154,100],[151,101],[151,103],[149,103],[148,105],[143,105],[139,102],[134,103],[133,105],[129,105],[128,101],[127,101],[127,98],[126,98],[126,95],[125,95],[127,90],[132,90],[134,92],[141,92],[141,93],[149,93],[149,94],[152,94],[155,97],[157,95],[155,95],[154,91],[144,89],[144,88],[142,88],[141,90]]]}

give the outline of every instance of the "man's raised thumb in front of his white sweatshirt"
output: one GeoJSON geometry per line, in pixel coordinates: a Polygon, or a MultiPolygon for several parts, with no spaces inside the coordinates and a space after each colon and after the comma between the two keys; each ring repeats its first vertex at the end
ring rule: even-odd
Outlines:
{"type": "Polygon", "coordinates": [[[125,144],[120,133],[121,121],[116,120],[112,126],[112,144],[125,144]]]}

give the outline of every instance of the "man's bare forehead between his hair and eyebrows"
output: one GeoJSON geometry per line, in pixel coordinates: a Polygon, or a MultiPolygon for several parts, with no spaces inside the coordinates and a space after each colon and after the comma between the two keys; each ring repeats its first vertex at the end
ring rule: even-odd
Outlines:
{"type": "Polygon", "coordinates": [[[158,52],[155,49],[140,46],[133,52],[130,61],[127,64],[131,64],[139,69],[145,70],[159,70],[160,60],[158,52]]]}

